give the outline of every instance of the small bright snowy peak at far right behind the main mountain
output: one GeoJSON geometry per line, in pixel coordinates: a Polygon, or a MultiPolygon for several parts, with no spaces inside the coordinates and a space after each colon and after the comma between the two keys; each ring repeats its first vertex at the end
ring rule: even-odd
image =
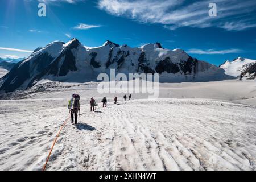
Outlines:
{"type": "MultiPolygon", "coordinates": [[[[241,78],[241,76],[242,77],[245,76],[247,72],[250,72],[249,75],[253,73],[252,71],[250,71],[251,69],[249,67],[253,66],[255,63],[256,63],[256,60],[238,57],[237,59],[234,59],[233,61],[226,61],[224,64],[220,65],[220,68],[225,69],[226,75],[241,78]]],[[[254,73],[255,73],[255,71],[254,71],[254,73]]],[[[249,76],[249,75],[247,75],[247,76],[249,76]]]]}

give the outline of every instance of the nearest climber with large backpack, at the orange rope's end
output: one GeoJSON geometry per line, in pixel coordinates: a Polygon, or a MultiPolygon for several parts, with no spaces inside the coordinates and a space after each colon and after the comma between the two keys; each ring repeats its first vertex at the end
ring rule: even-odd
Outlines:
{"type": "MultiPolygon", "coordinates": [[[[77,114],[80,113],[80,96],[78,94],[73,94],[71,100],[68,102],[69,113],[71,114],[71,123],[74,123],[75,115],[75,125],[77,125],[77,114]]],[[[80,115],[80,114],[79,114],[80,115]]]]}

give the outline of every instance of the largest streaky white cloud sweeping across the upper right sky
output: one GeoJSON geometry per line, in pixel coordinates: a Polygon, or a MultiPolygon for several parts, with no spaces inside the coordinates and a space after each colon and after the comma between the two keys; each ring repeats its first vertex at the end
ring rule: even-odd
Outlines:
{"type": "Polygon", "coordinates": [[[160,23],[170,30],[179,27],[219,27],[242,31],[256,27],[254,0],[214,0],[217,17],[208,15],[212,0],[99,0],[98,7],[115,16],[125,16],[142,23],[160,23]],[[242,19],[242,21],[241,21],[242,19]]]}

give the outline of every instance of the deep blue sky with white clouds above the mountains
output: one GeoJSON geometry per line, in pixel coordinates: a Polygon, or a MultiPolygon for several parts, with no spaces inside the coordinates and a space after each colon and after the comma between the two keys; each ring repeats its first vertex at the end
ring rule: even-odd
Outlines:
{"type": "Polygon", "coordinates": [[[54,40],[89,47],[106,40],[139,47],[160,42],[219,65],[256,59],[256,1],[0,0],[0,57],[27,57],[54,40]],[[39,2],[46,17],[38,16],[39,2]],[[209,3],[217,17],[208,15],[209,3]]]}

